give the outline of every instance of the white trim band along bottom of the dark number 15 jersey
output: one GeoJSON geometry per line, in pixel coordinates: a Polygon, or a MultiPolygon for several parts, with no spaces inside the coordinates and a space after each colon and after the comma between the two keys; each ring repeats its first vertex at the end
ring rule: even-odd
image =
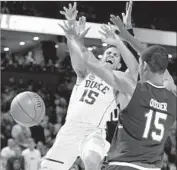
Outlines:
{"type": "Polygon", "coordinates": [[[128,166],[139,170],[161,170],[160,168],[145,168],[128,162],[110,162],[109,165],[128,166]]]}

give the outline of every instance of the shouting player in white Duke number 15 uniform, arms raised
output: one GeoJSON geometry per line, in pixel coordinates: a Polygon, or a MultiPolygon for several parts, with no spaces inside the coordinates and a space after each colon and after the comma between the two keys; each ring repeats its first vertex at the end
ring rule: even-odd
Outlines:
{"type": "MultiPolygon", "coordinates": [[[[64,10],[65,12],[61,13],[70,20],[69,24],[74,25],[77,15],[76,3],[73,7],[69,5],[69,9],[64,7],[64,10]]],[[[84,20],[82,17],[80,22],[85,22],[84,20]]],[[[70,37],[69,34],[68,32],[66,37],[70,37]]],[[[42,170],[68,170],[79,155],[86,170],[97,170],[109,149],[105,140],[105,125],[110,112],[116,108],[116,94],[110,85],[85,67],[84,62],[75,53],[70,39],[68,46],[77,82],[71,94],[65,125],[58,132],[56,141],[42,161],[41,167],[42,170]]],[[[127,61],[128,67],[132,68],[131,61],[127,61]]],[[[104,52],[102,62],[109,69],[119,69],[120,53],[115,47],[110,47],[104,52]]],[[[131,70],[133,71],[133,68],[131,70]]],[[[122,76],[124,75],[122,73],[122,76]]]]}

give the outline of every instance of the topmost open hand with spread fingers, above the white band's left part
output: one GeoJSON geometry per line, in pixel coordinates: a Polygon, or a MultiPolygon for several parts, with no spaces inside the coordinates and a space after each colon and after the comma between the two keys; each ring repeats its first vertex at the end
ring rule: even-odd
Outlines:
{"type": "Polygon", "coordinates": [[[68,21],[75,21],[77,17],[77,3],[74,2],[74,5],[68,5],[68,8],[63,7],[64,11],[60,11],[60,14],[64,15],[68,21]]]}

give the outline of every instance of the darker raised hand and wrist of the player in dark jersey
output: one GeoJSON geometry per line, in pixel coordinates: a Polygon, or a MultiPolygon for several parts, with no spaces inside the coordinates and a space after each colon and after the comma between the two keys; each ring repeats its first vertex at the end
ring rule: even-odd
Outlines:
{"type": "Polygon", "coordinates": [[[121,21],[119,16],[115,16],[115,15],[110,15],[110,21],[114,23],[114,25],[117,26],[118,30],[119,30],[119,37],[124,40],[124,41],[128,41],[129,37],[131,36],[130,33],[127,31],[127,29],[125,28],[123,22],[121,21]]]}

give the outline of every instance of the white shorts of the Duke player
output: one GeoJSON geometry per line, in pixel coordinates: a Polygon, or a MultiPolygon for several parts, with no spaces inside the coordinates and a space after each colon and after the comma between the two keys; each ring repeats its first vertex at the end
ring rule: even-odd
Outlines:
{"type": "Polygon", "coordinates": [[[54,145],[42,161],[41,170],[68,170],[76,158],[82,157],[83,151],[86,150],[94,149],[95,152],[101,154],[101,157],[104,157],[103,132],[104,130],[98,128],[64,125],[60,129],[54,145]],[[95,144],[92,142],[94,147],[89,144],[90,141],[95,141],[95,144]]]}

